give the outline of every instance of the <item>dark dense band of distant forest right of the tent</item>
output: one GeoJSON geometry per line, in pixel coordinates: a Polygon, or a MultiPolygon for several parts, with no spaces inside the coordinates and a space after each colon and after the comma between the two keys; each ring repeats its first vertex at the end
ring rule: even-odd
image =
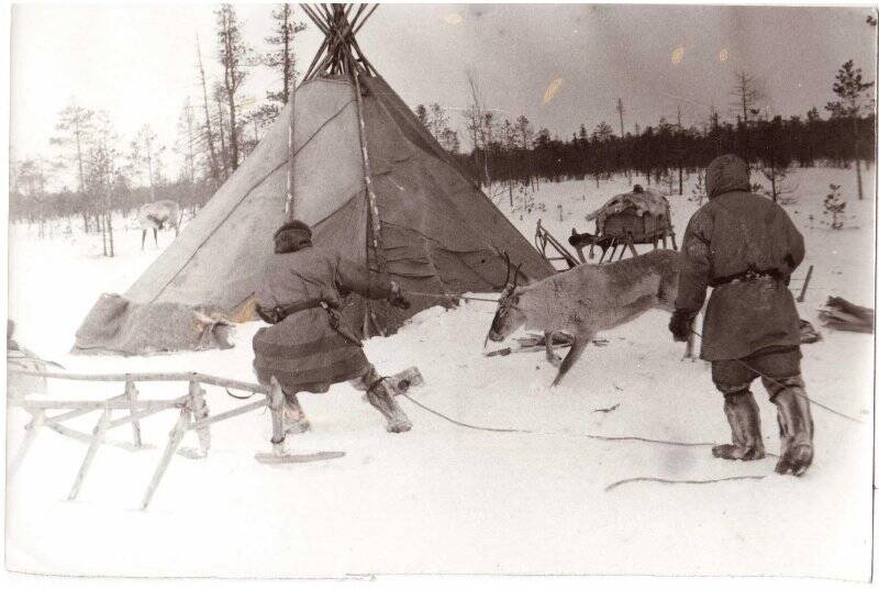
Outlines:
{"type": "Polygon", "coordinates": [[[664,120],[622,137],[601,123],[591,133],[581,125],[568,140],[542,129],[533,141],[497,141],[457,157],[482,183],[486,170],[490,181],[524,182],[533,178],[600,182],[613,174],[635,174],[648,183],[670,183],[668,192],[682,194],[679,177],[705,168],[721,154],[737,154],[769,175],[790,167],[849,167],[856,155],[872,162],[875,115],[860,118],[858,127],[863,131],[856,142],[852,120],[821,119],[816,109],[805,119],[776,116],[747,124],[739,119],[733,124],[714,116],[710,124],[688,129],[664,120]]]}

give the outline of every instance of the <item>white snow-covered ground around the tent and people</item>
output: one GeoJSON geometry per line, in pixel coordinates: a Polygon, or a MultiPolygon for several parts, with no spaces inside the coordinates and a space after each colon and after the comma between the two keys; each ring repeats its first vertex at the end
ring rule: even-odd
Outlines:
{"type": "MultiPolygon", "coordinates": [[[[801,170],[794,177],[800,201],[788,207],[806,237],[808,256],[797,277],[815,265],[800,311],[816,326],[816,310],[828,294],[874,301],[874,203],[849,200],[846,229],[831,231],[821,224],[831,181],[854,194],[850,170],[801,170]]],[[[501,207],[530,240],[543,218],[566,241],[571,226],[591,231],[585,215],[623,190],[628,190],[623,178],[599,189],[590,180],[543,183],[535,201],[545,203],[546,212],[520,216],[507,203],[501,207]]],[[[686,196],[670,201],[682,237],[696,205],[686,196]]],[[[120,220],[116,226],[122,225],[120,220]]],[[[232,350],[138,358],[68,355],[74,332],[98,294],[124,291],[158,251],[142,253],[140,232],[130,227],[118,236],[119,256],[105,259],[99,237],[65,235],[62,227],[45,240],[35,229],[11,230],[10,318],[21,344],[70,371],[198,370],[254,380],[249,342],[258,324],[240,326],[232,350]]],[[[170,237],[162,237],[164,246],[170,237]]],[[[681,361],[682,345],[671,342],[666,314],[650,312],[604,334],[610,344],[590,347],[563,386],[549,389],[555,369],[542,354],[480,356],[492,313],[490,303],[426,310],[396,336],[368,341],[367,355],[383,372],[419,366],[426,385],[412,394],[435,410],[471,424],[532,433],[463,428],[402,400],[414,427],[391,435],[359,392],[340,385],[324,396],[300,396],[313,427],[296,436],[293,446],[301,453],[344,450],[344,458],[257,464],[253,454],[267,450],[270,421],[254,412],[216,425],[207,459],[175,458],[149,510],[141,512],[136,506],[175,415],[144,421],[143,437],[152,449],[101,448],[73,502],[66,497],[86,447],[43,431],[9,481],[7,566],[133,576],[554,572],[868,579],[869,336],[822,331],[822,342],[803,347],[810,396],[861,423],[813,407],[815,464],[795,479],[772,474],[771,457],[727,463],[713,459],[708,446],[587,436],[727,439],[709,367],[681,361]],[[607,489],[631,478],[737,476],[765,478],[633,481],[607,489]]],[[[185,387],[141,391],[144,398],[169,398],[185,387]]],[[[68,399],[118,393],[119,385],[53,382],[51,389],[52,397],[68,399]]],[[[775,409],[759,386],[755,393],[767,449],[776,452],[775,409]]],[[[208,402],[212,413],[243,403],[218,388],[209,388],[208,402]]],[[[11,456],[26,415],[13,409],[8,420],[11,456]]],[[[90,431],[96,420],[90,415],[76,425],[90,431]]],[[[127,435],[125,428],[112,433],[118,439],[127,435]]],[[[194,437],[183,444],[194,445],[194,437]]]]}

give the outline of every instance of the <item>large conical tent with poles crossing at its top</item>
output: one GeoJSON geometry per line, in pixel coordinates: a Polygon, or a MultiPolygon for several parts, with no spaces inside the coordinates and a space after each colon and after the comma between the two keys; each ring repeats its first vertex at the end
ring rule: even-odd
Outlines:
{"type": "MultiPolygon", "coordinates": [[[[525,279],[553,274],[360,56],[353,33],[365,19],[348,21],[351,7],[321,9],[323,18],[303,10],[326,34],[310,73],[259,145],[124,297],[256,319],[263,261],[275,230],[292,218],[312,226],[315,245],[409,291],[499,290],[504,254],[525,279]]],[[[387,334],[442,302],[411,300],[403,312],[352,296],[345,314],[358,331],[387,334]]]]}

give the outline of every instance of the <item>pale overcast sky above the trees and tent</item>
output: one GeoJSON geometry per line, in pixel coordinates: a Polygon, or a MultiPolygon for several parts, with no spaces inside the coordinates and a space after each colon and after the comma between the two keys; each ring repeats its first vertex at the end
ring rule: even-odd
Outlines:
{"type": "MultiPolygon", "coordinates": [[[[214,8],[14,7],[13,157],[47,154],[57,113],[74,97],[108,111],[126,143],[149,123],[170,148],[183,101],[199,93],[197,34],[216,78],[214,8]]],[[[245,37],[259,51],[271,9],[236,5],[245,37]]],[[[826,116],[834,74],[846,59],[875,79],[877,30],[867,14],[853,8],[383,4],[358,38],[411,107],[438,102],[459,112],[470,71],[501,116],[524,113],[567,137],[580,123],[591,130],[607,121],[619,130],[617,97],[627,130],[663,115],[674,121],[678,105],[685,125],[701,124],[711,105],[728,116],[737,70],[759,80],[770,112],[804,115],[817,107],[826,116]],[[556,91],[547,93],[553,84],[556,91]]],[[[321,40],[313,26],[300,35],[303,66],[321,40]]],[[[262,99],[277,81],[257,68],[245,91],[262,99]]]]}

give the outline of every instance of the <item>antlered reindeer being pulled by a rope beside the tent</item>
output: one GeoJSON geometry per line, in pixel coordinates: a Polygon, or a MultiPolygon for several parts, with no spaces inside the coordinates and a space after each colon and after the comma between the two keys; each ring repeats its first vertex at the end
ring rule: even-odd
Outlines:
{"type": "Polygon", "coordinates": [[[556,386],[597,333],[655,308],[674,311],[679,256],[675,251],[657,249],[607,265],[580,265],[524,287],[516,286],[519,267],[510,281],[508,259],[507,287],[498,300],[488,337],[502,342],[522,325],[542,330],[546,358],[559,366],[553,334],[564,331],[572,335],[574,343],[553,381],[556,386]]]}

